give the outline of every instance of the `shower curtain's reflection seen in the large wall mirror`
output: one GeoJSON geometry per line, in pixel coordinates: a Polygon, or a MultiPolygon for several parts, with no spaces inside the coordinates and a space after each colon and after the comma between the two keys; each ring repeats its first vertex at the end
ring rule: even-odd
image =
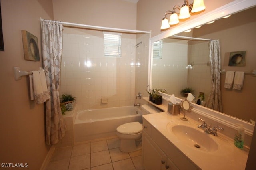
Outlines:
{"type": "Polygon", "coordinates": [[[212,88],[206,102],[206,107],[222,112],[222,101],[220,93],[220,42],[212,40],[209,42],[210,70],[212,77],[212,88]]]}

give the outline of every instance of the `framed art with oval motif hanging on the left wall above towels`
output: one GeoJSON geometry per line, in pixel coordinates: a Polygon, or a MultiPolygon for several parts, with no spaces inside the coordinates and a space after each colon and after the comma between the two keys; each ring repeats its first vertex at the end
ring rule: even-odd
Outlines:
{"type": "Polygon", "coordinates": [[[26,30],[21,30],[21,32],[25,59],[40,61],[37,37],[26,30]]]}

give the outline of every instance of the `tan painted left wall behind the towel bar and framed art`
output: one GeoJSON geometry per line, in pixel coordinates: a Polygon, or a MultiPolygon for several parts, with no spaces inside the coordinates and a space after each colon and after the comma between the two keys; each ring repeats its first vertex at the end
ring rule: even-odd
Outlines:
{"type": "Polygon", "coordinates": [[[31,170],[40,168],[49,150],[45,145],[44,105],[30,101],[28,77],[14,80],[12,67],[30,71],[42,66],[40,17],[52,19],[52,9],[52,0],[1,0],[4,51],[0,51],[0,160],[28,163],[31,170]],[[39,62],[24,60],[21,30],[38,38],[39,62]]]}

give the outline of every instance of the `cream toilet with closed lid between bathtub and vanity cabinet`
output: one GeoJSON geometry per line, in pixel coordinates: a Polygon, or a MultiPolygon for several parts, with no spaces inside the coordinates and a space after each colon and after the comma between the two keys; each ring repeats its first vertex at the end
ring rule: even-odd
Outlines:
{"type": "MultiPolygon", "coordinates": [[[[145,104],[141,106],[142,115],[162,112],[156,107],[145,104]]],[[[121,139],[120,151],[134,152],[141,149],[142,124],[140,122],[124,123],[116,128],[116,134],[121,139]]]]}

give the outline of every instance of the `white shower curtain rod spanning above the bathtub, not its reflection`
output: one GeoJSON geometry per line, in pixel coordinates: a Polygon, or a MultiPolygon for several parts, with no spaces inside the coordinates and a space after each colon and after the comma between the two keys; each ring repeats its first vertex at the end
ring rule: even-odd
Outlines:
{"type": "MultiPolygon", "coordinates": [[[[41,18],[41,22],[44,19],[41,18]]],[[[111,28],[111,27],[102,27],[102,26],[92,26],[92,25],[85,25],[85,24],[77,24],[72,22],[62,22],[62,21],[54,21],[54,20],[46,20],[46,21],[52,21],[52,22],[60,22],[65,26],[82,26],[87,28],[97,28],[102,30],[111,30],[111,31],[123,31],[123,32],[137,32],[137,33],[151,33],[151,31],[140,31],[140,30],[129,30],[129,29],[122,29],[122,28],[111,28]]]]}

